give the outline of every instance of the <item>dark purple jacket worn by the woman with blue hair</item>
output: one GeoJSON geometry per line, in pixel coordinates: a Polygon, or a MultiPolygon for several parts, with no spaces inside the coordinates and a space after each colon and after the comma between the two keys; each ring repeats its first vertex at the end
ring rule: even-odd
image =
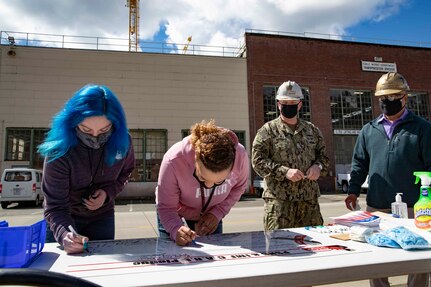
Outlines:
{"type": "Polygon", "coordinates": [[[52,162],[45,159],[42,190],[45,195],[44,215],[51,226],[54,237],[62,242],[73,218],[97,219],[114,210],[115,197],[124,189],[135,167],[132,141],[127,155],[122,160],[108,166],[103,149],[91,149],[81,142],[67,154],[52,162]],[[91,183],[107,194],[104,205],[97,210],[89,210],[81,201],[82,191],[91,183]]]}

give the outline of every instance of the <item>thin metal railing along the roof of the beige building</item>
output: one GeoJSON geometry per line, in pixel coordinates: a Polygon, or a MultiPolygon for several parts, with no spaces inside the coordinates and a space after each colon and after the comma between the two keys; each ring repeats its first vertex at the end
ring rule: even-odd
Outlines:
{"type": "MultiPolygon", "coordinates": [[[[42,33],[1,31],[1,45],[49,47],[63,49],[90,49],[104,51],[128,51],[129,39],[91,36],[71,36],[42,33]]],[[[200,56],[239,57],[245,46],[224,47],[165,42],[139,42],[139,51],[144,53],[185,54],[200,56]],[[185,51],[186,50],[186,51],[185,51]]]]}

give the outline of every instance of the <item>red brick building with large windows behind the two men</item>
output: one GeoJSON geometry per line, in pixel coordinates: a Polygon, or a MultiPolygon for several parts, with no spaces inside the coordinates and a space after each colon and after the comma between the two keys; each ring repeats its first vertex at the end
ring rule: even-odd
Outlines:
{"type": "Polygon", "coordinates": [[[380,114],[374,89],[385,71],[403,74],[411,89],[409,108],[430,119],[431,49],[339,40],[246,33],[250,139],[278,116],[275,92],[287,80],[303,88],[300,117],[322,131],[331,160],[330,176],[320,183],[333,189],[337,173],[349,173],[361,127],[380,114]]]}

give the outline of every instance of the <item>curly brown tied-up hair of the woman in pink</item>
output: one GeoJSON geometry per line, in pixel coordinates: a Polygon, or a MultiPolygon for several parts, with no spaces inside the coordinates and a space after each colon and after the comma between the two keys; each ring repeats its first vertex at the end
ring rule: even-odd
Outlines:
{"type": "Polygon", "coordinates": [[[235,143],[229,130],[217,127],[214,120],[202,121],[190,129],[190,143],[197,158],[212,172],[220,172],[232,167],[235,161],[235,143]]]}

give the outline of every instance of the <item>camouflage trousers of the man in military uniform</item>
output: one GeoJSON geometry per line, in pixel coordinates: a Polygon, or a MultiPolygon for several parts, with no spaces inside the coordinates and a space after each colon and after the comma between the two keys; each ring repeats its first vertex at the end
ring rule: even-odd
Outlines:
{"type": "Polygon", "coordinates": [[[315,201],[285,201],[265,198],[264,200],[263,227],[265,230],[323,224],[317,199],[315,201]]]}

